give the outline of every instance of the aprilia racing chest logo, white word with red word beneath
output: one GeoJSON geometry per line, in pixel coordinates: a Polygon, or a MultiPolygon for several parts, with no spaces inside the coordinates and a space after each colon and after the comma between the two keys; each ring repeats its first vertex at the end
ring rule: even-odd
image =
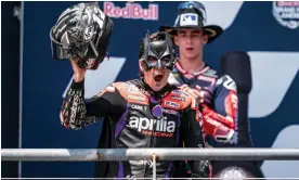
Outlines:
{"type": "Polygon", "coordinates": [[[146,117],[131,116],[129,127],[144,134],[172,137],[176,130],[176,121],[167,121],[167,117],[161,119],[148,119],[146,117]]]}

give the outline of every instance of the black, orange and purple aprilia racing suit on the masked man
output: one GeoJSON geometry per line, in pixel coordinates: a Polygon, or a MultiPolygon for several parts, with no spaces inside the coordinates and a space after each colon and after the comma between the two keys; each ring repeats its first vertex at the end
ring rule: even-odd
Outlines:
{"type": "MultiPolygon", "coordinates": [[[[100,149],[204,147],[197,104],[174,86],[154,93],[143,80],[114,82],[90,100],[83,99],[83,81],[73,81],[61,111],[66,128],[80,129],[104,119],[100,149]],[[152,99],[157,102],[152,102],[152,99]],[[155,105],[162,106],[162,117],[152,115],[155,105]]],[[[157,177],[171,178],[176,162],[157,162],[157,177]]],[[[96,178],[148,178],[152,162],[101,162],[96,178]]],[[[193,177],[198,177],[199,162],[192,162],[193,177]]]]}

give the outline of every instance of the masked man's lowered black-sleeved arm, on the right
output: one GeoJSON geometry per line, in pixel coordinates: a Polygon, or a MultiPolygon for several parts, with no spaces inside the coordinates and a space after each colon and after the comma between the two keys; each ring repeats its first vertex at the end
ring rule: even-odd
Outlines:
{"type": "MultiPolygon", "coordinates": [[[[202,114],[197,107],[188,106],[181,117],[181,138],[185,147],[205,147],[203,129],[200,127],[202,114]]],[[[202,177],[200,160],[188,160],[193,177],[202,177]]]]}

